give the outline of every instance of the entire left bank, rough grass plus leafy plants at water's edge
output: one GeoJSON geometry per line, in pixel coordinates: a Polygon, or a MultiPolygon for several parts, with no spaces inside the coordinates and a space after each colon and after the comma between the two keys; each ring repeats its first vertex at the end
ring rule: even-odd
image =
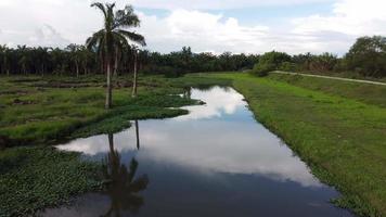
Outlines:
{"type": "Polygon", "coordinates": [[[2,77],[0,79],[0,216],[25,216],[101,188],[100,165],[49,144],[116,132],[130,119],[186,114],[178,108],[201,103],[181,98],[197,80],[143,77],[131,98],[129,78],[115,81],[113,108],[104,110],[103,77],[2,77]],[[172,108],[171,108],[172,107],[172,108]]]}

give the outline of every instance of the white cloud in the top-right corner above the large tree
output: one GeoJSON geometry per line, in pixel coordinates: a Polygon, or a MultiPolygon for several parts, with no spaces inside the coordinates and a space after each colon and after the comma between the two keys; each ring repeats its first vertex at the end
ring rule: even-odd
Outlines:
{"type": "Polygon", "coordinates": [[[386,35],[386,1],[339,0],[329,16],[311,15],[292,21],[293,34],[319,41],[318,49],[346,51],[356,38],[386,35]]]}

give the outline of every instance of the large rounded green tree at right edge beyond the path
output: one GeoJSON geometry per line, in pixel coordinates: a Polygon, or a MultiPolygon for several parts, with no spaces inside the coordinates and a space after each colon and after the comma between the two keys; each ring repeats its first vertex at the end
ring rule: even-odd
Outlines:
{"type": "Polygon", "coordinates": [[[346,55],[348,69],[364,76],[386,76],[386,37],[358,38],[346,55]]]}

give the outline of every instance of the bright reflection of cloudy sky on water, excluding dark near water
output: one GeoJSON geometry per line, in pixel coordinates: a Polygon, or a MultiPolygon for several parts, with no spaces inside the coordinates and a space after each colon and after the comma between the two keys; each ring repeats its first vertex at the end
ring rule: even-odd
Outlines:
{"type": "MultiPolygon", "coordinates": [[[[304,187],[320,182],[281,140],[256,123],[243,95],[233,89],[192,90],[192,98],[206,102],[189,106],[190,114],[166,120],[143,120],[140,125],[140,162],[173,165],[204,174],[261,175],[272,180],[294,181],[304,187]]],[[[134,128],[114,136],[123,154],[136,149],[134,128]]],[[[62,150],[88,155],[108,152],[106,136],[78,139],[62,150]]]]}

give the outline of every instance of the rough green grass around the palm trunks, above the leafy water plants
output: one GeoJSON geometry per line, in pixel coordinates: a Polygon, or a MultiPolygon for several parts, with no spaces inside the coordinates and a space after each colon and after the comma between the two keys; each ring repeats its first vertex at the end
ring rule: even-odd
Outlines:
{"type": "Polygon", "coordinates": [[[2,79],[0,136],[12,141],[9,145],[51,144],[73,138],[73,133],[89,136],[119,131],[129,127],[130,119],[177,116],[186,111],[169,107],[196,103],[175,94],[181,93],[181,88],[171,87],[165,79],[149,77],[140,80],[138,98],[130,97],[129,88],[116,88],[113,110],[106,111],[102,82],[93,81],[91,84],[95,87],[89,87],[92,78],[76,81],[73,78],[54,79],[2,79]],[[55,88],[56,85],[52,84],[87,87],[55,88]]]}

